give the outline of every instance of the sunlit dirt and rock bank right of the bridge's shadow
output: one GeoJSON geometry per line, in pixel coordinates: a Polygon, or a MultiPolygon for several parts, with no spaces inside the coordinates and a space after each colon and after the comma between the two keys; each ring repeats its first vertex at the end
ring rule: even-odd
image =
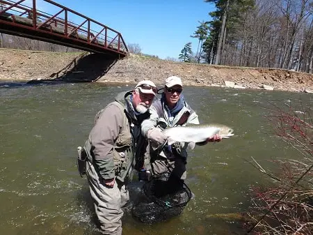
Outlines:
{"type": "Polygon", "coordinates": [[[99,82],[138,82],[152,79],[163,84],[170,75],[182,77],[187,86],[220,86],[234,89],[266,89],[276,91],[313,91],[313,75],[273,68],[213,66],[162,61],[132,56],[115,63],[99,82]]]}

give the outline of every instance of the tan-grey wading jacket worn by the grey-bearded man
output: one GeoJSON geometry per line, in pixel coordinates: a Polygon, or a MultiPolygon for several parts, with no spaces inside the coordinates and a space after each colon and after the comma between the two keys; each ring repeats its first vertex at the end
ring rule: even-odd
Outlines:
{"type": "Polygon", "coordinates": [[[124,181],[132,166],[142,164],[140,159],[135,162],[135,156],[143,158],[145,153],[147,141],[141,135],[141,122],[150,114],[135,114],[131,93],[119,93],[113,103],[97,113],[84,146],[100,179],[124,181]]]}

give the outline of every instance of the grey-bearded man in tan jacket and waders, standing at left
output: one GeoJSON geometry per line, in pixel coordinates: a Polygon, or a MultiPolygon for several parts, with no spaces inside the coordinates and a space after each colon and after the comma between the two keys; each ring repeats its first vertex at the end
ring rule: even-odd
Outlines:
{"type": "MultiPolygon", "coordinates": [[[[127,181],[134,160],[143,162],[147,147],[141,123],[157,94],[150,80],[139,82],[133,91],[119,93],[100,110],[84,146],[86,175],[102,234],[122,234],[122,207],[129,200],[127,181]]],[[[137,163],[137,162],[136,162],[137,163]]],[[[139,168],[143,165],[139,166],[139,168]]]]}

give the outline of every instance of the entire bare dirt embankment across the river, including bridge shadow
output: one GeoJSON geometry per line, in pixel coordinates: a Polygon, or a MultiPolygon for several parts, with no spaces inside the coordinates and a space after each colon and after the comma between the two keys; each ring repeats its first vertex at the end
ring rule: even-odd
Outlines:
{"type": "Polygon", "coordinates": [[[225,86],[229,81],[248,89],[268,85],[274,90],[313,91],[312,74],[290,70],[211,66],[136,55],[113,61],[90,53],[0,50],[0,79],[61,79],[110,84],[135,84],[142,79],[152,79],[163,85],[170,75],[182,77],[184,84],[194,86],[225,86]]]}

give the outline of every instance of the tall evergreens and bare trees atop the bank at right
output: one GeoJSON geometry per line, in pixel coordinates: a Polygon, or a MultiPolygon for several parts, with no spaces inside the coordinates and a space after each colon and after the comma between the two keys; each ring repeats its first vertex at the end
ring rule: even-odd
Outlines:
{"type": "Polygon", "coordinates": [[[204,0],[212,20],[193,33],[179,59],[227,66],[284,68],[312,73],[313,0],[204,0]]]}

